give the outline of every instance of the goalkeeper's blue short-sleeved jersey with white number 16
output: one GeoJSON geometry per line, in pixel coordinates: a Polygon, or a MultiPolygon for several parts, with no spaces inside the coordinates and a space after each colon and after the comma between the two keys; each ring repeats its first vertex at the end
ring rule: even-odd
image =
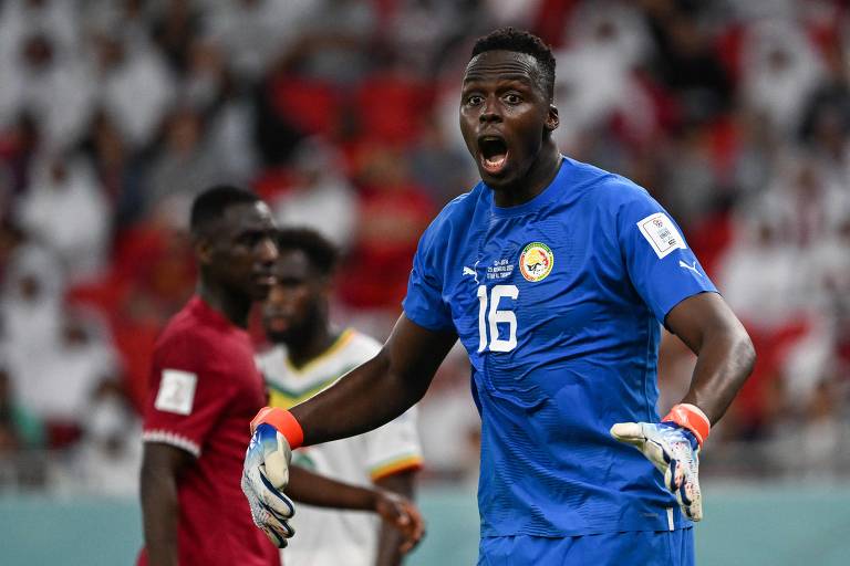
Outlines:
{"type": "Polygon", "coordinates": [[[661,473],[609,429],[659,420],[660,323],[702,292],[716,289],[664,209],[587,164],[562,158],[520,206],[496,207],[479,182],[443,209],[419,241],[404,312],[456,332],[469,354],[481,536],[691,524],[661,473]]]}

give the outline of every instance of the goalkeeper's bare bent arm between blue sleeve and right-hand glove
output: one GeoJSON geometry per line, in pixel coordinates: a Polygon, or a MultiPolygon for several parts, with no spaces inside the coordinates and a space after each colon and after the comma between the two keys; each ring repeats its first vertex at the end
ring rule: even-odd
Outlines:
{"type": "Polygon", "coordinates": [[[685,298],[667,313],[665,323],[697,355],[691,388],[682,402],[699,407],[714,424],[753,371],[753,342],[716,293],[685,298]]]}

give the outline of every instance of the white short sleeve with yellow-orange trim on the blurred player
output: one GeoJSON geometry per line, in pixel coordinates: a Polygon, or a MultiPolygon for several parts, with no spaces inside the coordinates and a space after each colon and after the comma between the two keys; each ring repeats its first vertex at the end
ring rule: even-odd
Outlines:
{"type": "Polygon", "coordinates": [[[416,431],[416,407],[371,432],[366,440],[366,467],[372,481],[422,468],[422,446],[416,431]]]}

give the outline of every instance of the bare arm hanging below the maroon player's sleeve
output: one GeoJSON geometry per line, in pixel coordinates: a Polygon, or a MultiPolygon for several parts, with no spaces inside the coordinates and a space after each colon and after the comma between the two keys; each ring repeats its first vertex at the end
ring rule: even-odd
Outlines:
{"type": "Polygon", "coordinates": [[[177,482],[195,462],[189,452],[145,442],[142,457],[142,521],[151,566],[177,566],[177,482]]]}

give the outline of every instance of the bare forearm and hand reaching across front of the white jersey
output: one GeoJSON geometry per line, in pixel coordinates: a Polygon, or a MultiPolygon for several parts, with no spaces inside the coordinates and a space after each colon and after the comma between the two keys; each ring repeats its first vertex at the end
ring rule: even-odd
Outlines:
{"type": "Polygon", "coordinates": [[[379,556],[386,556],[380,558],[377,564],[394,565],[401,564],[402,556],[416,546],[425,532],[422,515],[413,504],[413,472],[394,475],[375,482],[377,489],[369,489],[338,482],[293,465],[289,469],[286,493],[299,503],[318,507],[377,513],[383,520],[379,556]]]}

